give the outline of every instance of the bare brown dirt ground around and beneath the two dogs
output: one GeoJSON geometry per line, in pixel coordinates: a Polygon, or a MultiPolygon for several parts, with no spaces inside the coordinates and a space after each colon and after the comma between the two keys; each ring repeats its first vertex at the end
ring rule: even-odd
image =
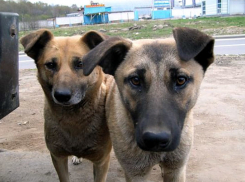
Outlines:
{"type": "MultiPolygon", "coordinates": [[[[44,96],[36,70],[20,71],[20,107],[0,120],[0,182],[58,181],[43,135],[44,96]]],[[[207,71],[194,109],[188,182],[245,182],[245,56],[221,56],[207,71]]],[[[73,166],[72,182],[92,181],[92,165],[73,166]]],[[[158,166],[151,182],[162,181],[158,166]]],[[[108,182],[124,182],[114,153],[108,182]]]]}

